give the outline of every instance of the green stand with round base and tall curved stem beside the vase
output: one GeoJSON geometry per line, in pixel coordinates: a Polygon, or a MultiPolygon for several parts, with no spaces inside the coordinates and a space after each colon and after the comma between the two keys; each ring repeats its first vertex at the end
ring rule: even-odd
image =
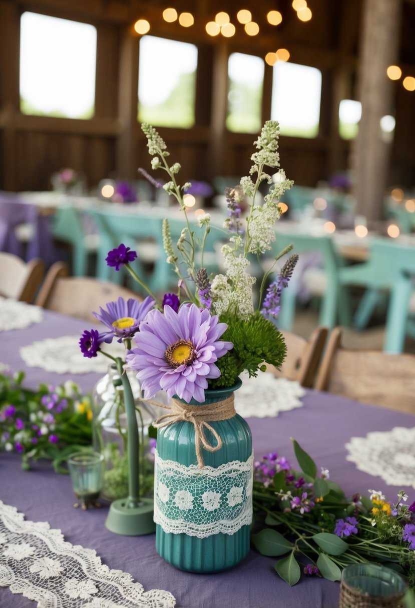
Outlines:
{"type": "Polygon", "coordinates": [[[155,532],[153,499],[140,496],[139,433],[134,395],[122,359],[117,358],[117,370],[124,388],[124,405],[128,428],[128,496],[111,503],[105,527],[114,534],[143,536],[155,532]]]}

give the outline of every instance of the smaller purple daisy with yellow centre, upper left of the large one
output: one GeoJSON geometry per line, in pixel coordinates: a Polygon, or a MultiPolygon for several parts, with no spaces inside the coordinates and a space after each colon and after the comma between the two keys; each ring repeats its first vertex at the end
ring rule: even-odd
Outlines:
{"type": "Polygon", "coordinates": [[[99,313],[92,314],[110,330],[100,334],[100,342],[110,343],[114,336],[118,338],[118,342],[123,338],[133,337],[138,331],[139,324],[144,321],[154,305],[153,298],[147,295],[142,302],[134,298],[128,298],[126,302],[124,298],[119,297],[116,302],[107,303],[107,310],[100,306],[99,313]]]}

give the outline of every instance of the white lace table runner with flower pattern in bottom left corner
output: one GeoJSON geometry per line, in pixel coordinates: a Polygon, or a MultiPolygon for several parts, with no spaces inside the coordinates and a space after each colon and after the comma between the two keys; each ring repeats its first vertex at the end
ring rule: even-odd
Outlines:
{"type": "Polygon", "coordinates": [[[92,549],[71,545],[47,522],[29,522],[0,500],[0,586],[38,608],[173,608],[167,591],[145,592],[128,573],[110,570],[92,549]]]}

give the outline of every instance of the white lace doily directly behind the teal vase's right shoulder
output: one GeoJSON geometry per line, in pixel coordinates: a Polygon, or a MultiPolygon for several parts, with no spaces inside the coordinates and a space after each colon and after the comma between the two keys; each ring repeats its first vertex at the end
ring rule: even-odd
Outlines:
{"type": "Polygon", "coordinates": [[[302,407],[305,394],[299,382],[260,373],[257,378],[241,375],[242,387],[235,392],[235,410],[243,418],[277,416],[295,407],[302,407]]]}

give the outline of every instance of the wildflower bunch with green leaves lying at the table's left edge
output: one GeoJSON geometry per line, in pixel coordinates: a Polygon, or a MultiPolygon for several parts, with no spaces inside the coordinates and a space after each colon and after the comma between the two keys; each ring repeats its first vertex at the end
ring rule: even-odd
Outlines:
{"type": "Polygon", "coordinates": [[[91,444],[91,406],[74,382],[60,387],[41,384],[37,391],[23,388],[24,373],[0,373],[0,450],[30,460],[50,458],[55,471],[66,456],[91,444]]]}

